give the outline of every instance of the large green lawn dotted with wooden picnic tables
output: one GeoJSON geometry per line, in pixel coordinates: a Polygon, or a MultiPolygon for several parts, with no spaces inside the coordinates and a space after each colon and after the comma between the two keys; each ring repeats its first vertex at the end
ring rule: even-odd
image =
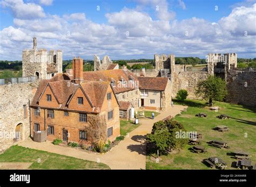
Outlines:
{"type": "Polygon", "coordinates": [[[181,116],[176,116],[174,120],[183,124],[186,131],[196,131],[203,134],[203,139],[199,140],[201,140],[201,145],[206,148],[207,153],[192,153],[188,148],[193,146],[186,145],[184,149],[178,150],[176,153],[160,156],[159,163],[156,163],[151,156],[147,156],[147,169],[211,169],[205,166],[202,161],[212,156],[218,156],[227,162],[227,169],[235,169],[231,165],[232,162],[237,160],[229,154],[235,150],[250,153],[252,163],[256,163],[255,108],[215,102],[214,106],[220,107],[220,110],[215,112],[209,110],[209,107],[202,100],[186,100],[183,104],[188,106],[187,112],[181,112],[181,116]],[[199,112],[204,112],[208,116],[206,118],[195,117],[199,112]],[[217,118],[220,114],[226,114],[230,119],[221,120],[217,118]],[[218,125],[227,126],[230,131],[218,132],[212,130],[218,125]],[[206,142],[215,139],[227,142],[231,148],[220,149],[207,145],[206,142]]]}

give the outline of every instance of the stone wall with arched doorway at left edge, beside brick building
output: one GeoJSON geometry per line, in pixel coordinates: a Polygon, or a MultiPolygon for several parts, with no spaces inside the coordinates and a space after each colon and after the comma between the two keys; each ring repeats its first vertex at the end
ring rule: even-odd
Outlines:
{"type": "Polygon", "coordinates": [[[38,82],[0,86],[0,152],[13,145],[18,124],[22,124],[21,140],[29,138],[29,100],[37,85],[38,82]]]}

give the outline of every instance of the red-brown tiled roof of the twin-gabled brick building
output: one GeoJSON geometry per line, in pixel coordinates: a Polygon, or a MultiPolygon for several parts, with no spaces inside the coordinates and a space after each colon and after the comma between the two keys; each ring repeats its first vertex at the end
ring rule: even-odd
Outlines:
{"type": "MultiPolygon", "coordinates": [[[[64,75],[64,74],[63,74],[64,75]]],[[[84,81],[80,84],[73,84],[71,81],[64,80],[65,76],[57,74],[52,77],[50,80],[42,80],[39,83],[39,87],[35,93],[35,96],[32,99],[31,106],[39,107],[38,100],[41,98],[42,93],[45,88],[49,85],[53,95],[56,97],[59,102],[59,108],[63,110],[69,110],[67,103],[72,98],[72,95],[76,90],[81,87],[87,98],[89,98],[90,103],[92,104],[92,109],[86,112],[100,112],[104,97],[109,87],[110,82],[104,81],[84,81]],[[99,94],[100,93],[100,94],[99,94]],[[93,108],[99,108],[99,111],[94,110],[93,108]]]]}

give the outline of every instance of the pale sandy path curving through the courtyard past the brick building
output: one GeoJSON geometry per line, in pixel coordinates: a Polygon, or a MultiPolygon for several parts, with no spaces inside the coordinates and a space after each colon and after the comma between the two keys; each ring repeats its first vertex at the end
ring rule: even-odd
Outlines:
{"type": "Polygon", "coordinates": [[[128,137],[120,142],[111,152],[106,154],[93,154],[69,147],[55,146],[51,141],[34,142],[31,139],[17,142],[19,146],[32,149],[44,150],[50,153],[57,153],[66,156],[76,157],[78,159],[99,161],[107,164],[111,169],[146,169],[146,145],[145,137],[147,133],[151,133],[152,126],[155,122],[166,118],[167,116],[176,116],[181,110],[187,106],[174,105],[154,119],[139,119],[141,124],[134,129],[128,137]]]}

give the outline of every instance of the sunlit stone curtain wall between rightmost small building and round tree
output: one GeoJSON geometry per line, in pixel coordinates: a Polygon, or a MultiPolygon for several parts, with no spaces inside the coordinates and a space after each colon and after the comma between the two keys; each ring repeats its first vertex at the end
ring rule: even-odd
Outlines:
{"type": "Polygon", "coordinates": [[[180,89],[186,89],[188,98],[197,98],[197,83],[207,78],[207,72],[181,71],[173,73],[172,76],[172,97],[176,97],[180,89]]]}

